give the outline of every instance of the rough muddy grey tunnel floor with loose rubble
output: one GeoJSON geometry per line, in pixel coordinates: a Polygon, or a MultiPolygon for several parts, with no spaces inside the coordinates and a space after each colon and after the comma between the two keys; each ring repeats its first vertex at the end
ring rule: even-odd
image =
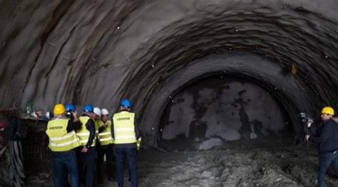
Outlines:
{"type": "MultiPolygon", "coordinates": [[[[215,151],[145,150],[138,158],[139,186],[315,186],[317,149],[304,144],[215,151]]],[[[125,173],[125,180],[128,173],[125,173]]],[[[338,186],[329,168],[327,186],[338,186]]],[[[51,174],[31,176],[27,186],[52,186],[51,174]]],[[[117,186],[105,181],[102,186],[117,186]]],[[[130,183],[126,181],[126,186],[130,183]]]]}

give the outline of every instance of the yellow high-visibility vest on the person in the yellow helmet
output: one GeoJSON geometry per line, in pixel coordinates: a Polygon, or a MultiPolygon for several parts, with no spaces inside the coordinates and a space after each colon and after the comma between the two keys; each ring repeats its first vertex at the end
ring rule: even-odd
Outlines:
{"type": "Polygon", "coordinates": [[[47,124],[48,147],[51,151],[69,151],[80,146],[74,131],[67,132],[69,119],[51,119],[47,124]]]}

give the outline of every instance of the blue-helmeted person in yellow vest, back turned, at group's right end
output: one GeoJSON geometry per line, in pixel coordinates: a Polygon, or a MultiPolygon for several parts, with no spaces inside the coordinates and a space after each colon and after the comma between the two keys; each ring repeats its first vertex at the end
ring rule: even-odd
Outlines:
{"type": "Polygon", "coordinates": [[[116,176],[119,187],[123,187],[125,159],[127,159],[128,162],[131,186],[138,186],[136,142],[140,131],[138,129],[135,114],[130,112],[130,107],[130,100],[121,100],[121,112],[113,115],[113,128],[111,129],[111,134],[115,144],[114,155],[116,158],[116,176]]]}

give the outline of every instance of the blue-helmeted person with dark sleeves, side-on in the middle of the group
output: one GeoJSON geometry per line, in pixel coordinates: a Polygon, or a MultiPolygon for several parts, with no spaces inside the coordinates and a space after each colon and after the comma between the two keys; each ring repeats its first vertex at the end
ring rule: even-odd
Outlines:
{"type": "Polygon", "coordinates": [[[83,114],[79,117],[81,128],[76,131],[76,135],[81,141],[81,147],[78,149],[80,181],[85,186],[93,186],[96,173],[96,135],[95,135],[95,114],[92,105],[83,106],[83,114]]]}

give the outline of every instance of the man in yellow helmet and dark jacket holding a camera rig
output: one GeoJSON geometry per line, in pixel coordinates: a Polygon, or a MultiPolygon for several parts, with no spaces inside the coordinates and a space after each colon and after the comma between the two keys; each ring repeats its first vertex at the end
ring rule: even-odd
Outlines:
{"type": "Polygon", "coordinates": [[[325,173],[330,164],[332,164],[338,176],[338,124],[332,118],[334,109],[332,107],[324,107],[321,113],[322,126],[319,127],[317,134],[305,135],[307,141],[314,141],[319,145],[319,187],[324,186],[325,173]]]}

